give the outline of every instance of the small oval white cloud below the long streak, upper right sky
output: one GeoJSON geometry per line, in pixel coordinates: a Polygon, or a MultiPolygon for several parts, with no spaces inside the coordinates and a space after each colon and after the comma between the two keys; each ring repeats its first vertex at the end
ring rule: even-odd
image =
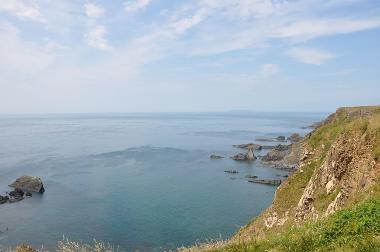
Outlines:
{"type": "Polygon", "coordinates": [[[300,62],[312,65],[322,65],[326,61],[336,57],[330,52],[301,47],[292,48],[287,52],[287,54],[300,62]]]}

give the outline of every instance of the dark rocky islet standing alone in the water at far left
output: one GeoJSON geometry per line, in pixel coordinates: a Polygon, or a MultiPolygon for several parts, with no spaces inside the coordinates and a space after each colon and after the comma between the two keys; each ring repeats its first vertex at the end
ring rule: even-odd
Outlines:
{"type": "Polygon", "coordinates": [[[9,185],[13,191],[0,195],[0,204],[13,203],[23,200],[25,197],[32,197],[32,193],[44,193],[45,188],[39,177],[22,176],[9,185]]]}

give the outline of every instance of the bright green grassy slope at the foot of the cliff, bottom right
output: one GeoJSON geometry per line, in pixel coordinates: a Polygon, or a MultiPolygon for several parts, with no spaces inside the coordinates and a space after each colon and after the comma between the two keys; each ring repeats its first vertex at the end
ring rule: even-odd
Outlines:
{"type": "Polygon", "coordinates": [[[380,199],[265,240],[228,244],[209,251],[380,251],[380,199]]]}

